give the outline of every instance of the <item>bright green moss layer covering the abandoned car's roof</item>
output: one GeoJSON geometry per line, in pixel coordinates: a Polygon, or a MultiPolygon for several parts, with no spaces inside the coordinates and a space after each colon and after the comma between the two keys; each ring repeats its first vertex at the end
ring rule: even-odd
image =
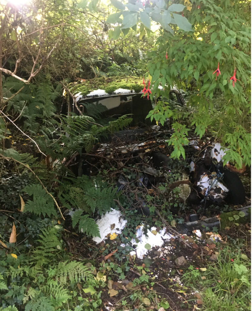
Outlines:
{"type": "Polygon", "coordinates": [[[142,78],[138,77],[102,77],[89,80],[78,80],[69,84],[69,89],[73,95],[81,93],[84,97],[95,90],[104,90],[108,94],[113,94],[117,89],[126,89],[140,93],[143,89],[142,78]]]}

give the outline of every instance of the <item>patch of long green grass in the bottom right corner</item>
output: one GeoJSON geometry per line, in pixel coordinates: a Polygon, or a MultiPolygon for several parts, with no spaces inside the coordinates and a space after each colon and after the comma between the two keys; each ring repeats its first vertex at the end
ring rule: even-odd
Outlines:
{"type": "Polygon", "coordinates": [[[247,311],[250,302],[250,262],[240,251],[227,247],[220,251],[218,260],[206,265],[206,271],[192,266],[183,275],[185,286],[200,290],[202,310],[247,311]]]}

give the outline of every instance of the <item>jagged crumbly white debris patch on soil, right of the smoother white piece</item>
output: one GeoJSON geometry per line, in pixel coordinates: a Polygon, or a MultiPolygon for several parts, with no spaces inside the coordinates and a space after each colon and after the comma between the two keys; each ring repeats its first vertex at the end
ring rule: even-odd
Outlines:
{"type": "MultiPolygon", "coordinates": [[[[156,235],[153,234],[151,231],[156,230],[155,227],[152,227],[150,230],[147,231],[147,237],[143,233],[143,226],[137,229],[137,239],[139,242],[137,243],[135,240],[132,241],[132,245],[136,245],[135,252],[137,257],[142,259],[143,255],[146,255],[147,249],[145,248],[146,244],[150,244],[151,248],[155,246],[162,246],[164,244],[164,240],[169,240],[172,236],[170,234],[165,233],[165,228],[160,230],[159,233],[156,235]],[[163,240],[164,239],[164,240],[163,240]]],[[[131,255],[133,252],[131,253],[131,255]]]]}

